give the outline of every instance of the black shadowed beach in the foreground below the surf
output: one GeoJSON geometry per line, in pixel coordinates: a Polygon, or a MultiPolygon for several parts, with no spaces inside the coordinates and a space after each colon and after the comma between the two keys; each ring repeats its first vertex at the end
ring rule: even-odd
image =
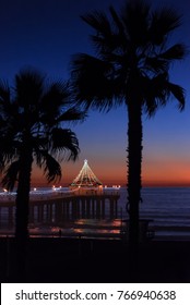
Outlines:
{"type": "Polygon", "coordinates": [[[0,239],[1,282],[190,282],[190,242],[140,244],[130,274],[129,245],[119,240],[29,239],[24,279],[14,273],[14,239],[0,239]]]}

